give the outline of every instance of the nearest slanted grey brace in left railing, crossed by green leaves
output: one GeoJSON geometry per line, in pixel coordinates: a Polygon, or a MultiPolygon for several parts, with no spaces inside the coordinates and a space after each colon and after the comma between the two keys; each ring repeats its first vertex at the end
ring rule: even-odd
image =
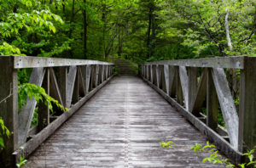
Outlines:
{"type": "MultiPolygon", "coordinates": [[[[39,87],[42,86],[44,79],[44,68],[35,68],[32,70],[32,75],[30,76],[29,82],[39,87]]],[[[19,113],[19,146],[26,143],[26,136],[29,131],[32,116],[36,108],[36,100],[34,98],[27,98],[26,105],[20,110],[19,113]]]]}

